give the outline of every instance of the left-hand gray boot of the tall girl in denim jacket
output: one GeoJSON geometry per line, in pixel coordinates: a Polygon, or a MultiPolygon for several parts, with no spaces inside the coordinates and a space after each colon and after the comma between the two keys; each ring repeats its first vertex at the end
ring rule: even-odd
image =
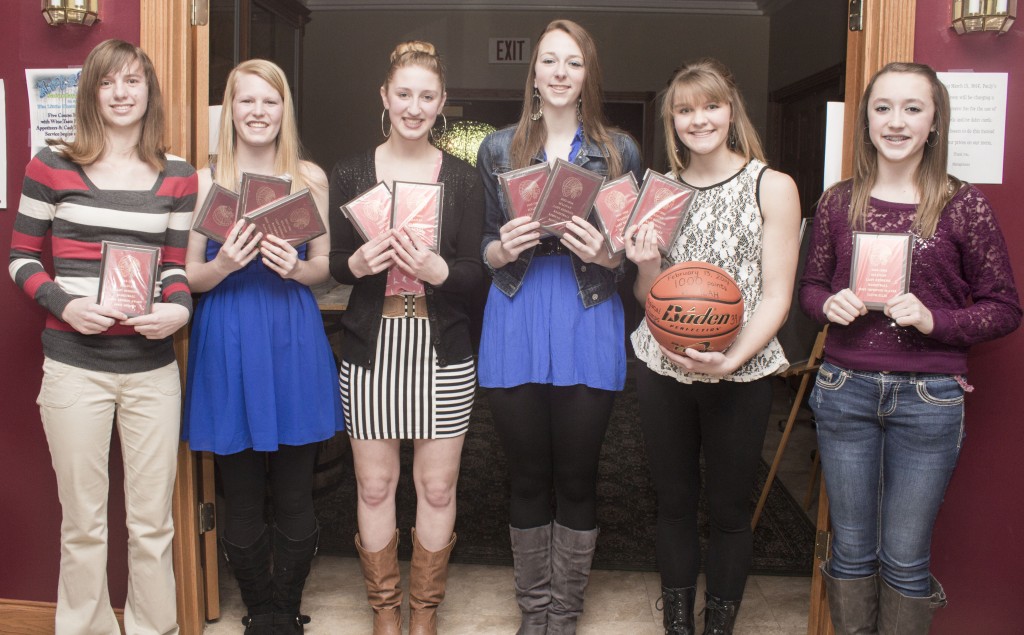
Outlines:
{"type": "Polygon", "coordinates": [[[551,605],[551,523],[517,530],[509,526],[515,570],[515,599],[522,611],[516,635],[545,635],[551,605]]]}

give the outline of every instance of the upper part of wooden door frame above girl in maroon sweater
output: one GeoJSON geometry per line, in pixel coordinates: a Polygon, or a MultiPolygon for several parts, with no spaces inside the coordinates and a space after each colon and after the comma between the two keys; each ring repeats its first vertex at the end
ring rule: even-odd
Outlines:
{"type": "Polygon", "coordinates": [[[853,174],[853,129],[860,96],[876,71],[890,61],[913,60],[914,0],[862,0],[864,30],[847,33],[843,178],[853,174]]]}

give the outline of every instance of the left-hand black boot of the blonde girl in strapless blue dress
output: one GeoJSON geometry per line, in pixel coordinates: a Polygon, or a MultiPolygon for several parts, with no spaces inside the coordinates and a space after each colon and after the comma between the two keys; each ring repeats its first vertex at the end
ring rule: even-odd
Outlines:
{"type": "Polygon", "coordinates": [[[272,635],[273,587],[270,583],[270,536],[266,526],[248,547],[221,539],[224,557],[242,591],[247,613],[242,619],[246,635],[272,635]]]}

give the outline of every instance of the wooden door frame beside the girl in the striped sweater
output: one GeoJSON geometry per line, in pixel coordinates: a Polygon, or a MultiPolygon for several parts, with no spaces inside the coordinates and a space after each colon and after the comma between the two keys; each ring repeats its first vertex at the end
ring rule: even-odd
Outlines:
{"type": "MultiPolygon", "coordinates": [[[[168,147],[193,165],[205,165],[208,156],[207,83],[209,35],[206,26],[193,25],[188,2],[141,0],[140,45],[153,58],[164,93],[168,147]]],[[[182,378],[187,361],[188,334],[174,338],[182,378]]],[[[204,549],[200,537],[198,462],[185,443],[178,449],[178,476],[174,485],[174,574],[177,583],[178,626],[182,635],[201,635],[205,618],[216,602],[216,550],[204,549]],[[204,552],[213,557],[204,558],[204,552]],[[209,563],[208,563],[209,561],[209,563]],[[211,578],[209,575],[212,574],[211,578]],[[213,602],[210,601],[212,592],[213,602]]],[[[215,540],[215,539],[214,539],[215,540]]]]}

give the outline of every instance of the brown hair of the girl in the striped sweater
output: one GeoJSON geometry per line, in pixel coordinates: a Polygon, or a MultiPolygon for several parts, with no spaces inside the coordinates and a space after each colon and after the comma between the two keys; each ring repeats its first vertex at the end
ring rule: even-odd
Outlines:
{"type": "Polygon", "coordinates": [[[160,92],[160,82],[157,81],[157,71],[145,51],[124,40],[105,40],[89,52],[82,65],[78,96],[75,98],[75,139],[47,142],[62,145],[65,156],[79,165],[92,165],[98,161],[106,146],[103,119],[96,102],[99,84],[108,75],[127,69],[136,61],[142,68],[148,89],[148,103],[142,115],[142,130],[138,136],[136,153],[141,161],[154,169],[163,170],[167,162],[164,146],[164,97],[160,92]]]}

